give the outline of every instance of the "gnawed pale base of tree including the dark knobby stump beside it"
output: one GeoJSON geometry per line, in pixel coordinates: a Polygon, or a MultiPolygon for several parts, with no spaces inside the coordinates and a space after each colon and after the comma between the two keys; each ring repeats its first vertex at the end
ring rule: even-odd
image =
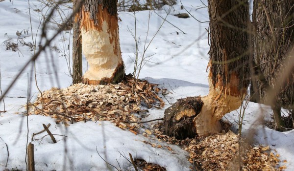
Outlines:
{"type": "MultiPolygon", "coordinates": [[[[229,92],[229,91],[228,91],[229,92]]],[[[245,94],[231,96],[211,88],[204,97],[187,97],[165,111],[164,130],[176,139],[206,137],[221,132],[221,118],[240,107],[245,94]]]]}

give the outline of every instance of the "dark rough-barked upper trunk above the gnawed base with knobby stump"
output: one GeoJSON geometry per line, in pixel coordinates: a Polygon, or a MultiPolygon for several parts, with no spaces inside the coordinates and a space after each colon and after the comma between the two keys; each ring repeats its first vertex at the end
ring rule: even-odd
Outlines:
{"type": "Polygon", "coordinates": [[[248,68],[248,2],[209,0],[210,71],[215,88],[228,87],[241,94],[250,80],[248,68]]]}

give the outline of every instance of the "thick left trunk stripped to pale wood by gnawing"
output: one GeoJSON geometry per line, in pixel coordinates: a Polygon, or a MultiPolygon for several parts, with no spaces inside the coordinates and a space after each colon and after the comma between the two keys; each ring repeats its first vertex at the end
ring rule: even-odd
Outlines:
{"type": "MultiPolygon", "coordinates": [[[[79,0],[80,1],[80,0],[79,0]]],[[[116,83],[124,74],[117,0],[85,0],[79,13],[82,51],[89,70],[84,84],[116,83]]]]}

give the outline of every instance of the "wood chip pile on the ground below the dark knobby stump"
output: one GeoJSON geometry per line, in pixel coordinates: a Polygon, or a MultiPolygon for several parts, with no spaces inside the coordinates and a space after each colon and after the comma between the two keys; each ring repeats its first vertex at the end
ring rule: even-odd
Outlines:
{"type": "MultiPolygon", "coordinates": [[[[190,154],[189,161],[196,171],[238,171],[241,160],[242,171],[281,171],[286,166],[279,166],[279,154],[274,154],[269,146],[252,147],[241,142],[239,157],[238,135],[232,131],[208,136],[204,139],[176,140],[163,135],[155,129],[155,135],[171,144],[179,145],[190,154]]],[[[282,161],[286,163],[287,161],[282,161]]]]}

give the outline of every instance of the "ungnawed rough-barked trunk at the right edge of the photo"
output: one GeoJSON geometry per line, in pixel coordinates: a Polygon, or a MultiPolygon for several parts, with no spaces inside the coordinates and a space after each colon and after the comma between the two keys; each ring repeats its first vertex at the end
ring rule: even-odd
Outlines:
{"type": "Polygon", "coordinates": [[[288,53],[294,45],[294,1],[255,0],[252,18],[254,62],[264,81],[252,81],[256,84],[251,84],[251,97],[255,102],[271,106],[276,128],[281,130],[285,127],[281,107],[294,109],[294,66],[290,74],[283,74],[285,59],[290,57],[288,53]],[[283,84],[278,81],[281,76],[286,77],[283,84]]]}

